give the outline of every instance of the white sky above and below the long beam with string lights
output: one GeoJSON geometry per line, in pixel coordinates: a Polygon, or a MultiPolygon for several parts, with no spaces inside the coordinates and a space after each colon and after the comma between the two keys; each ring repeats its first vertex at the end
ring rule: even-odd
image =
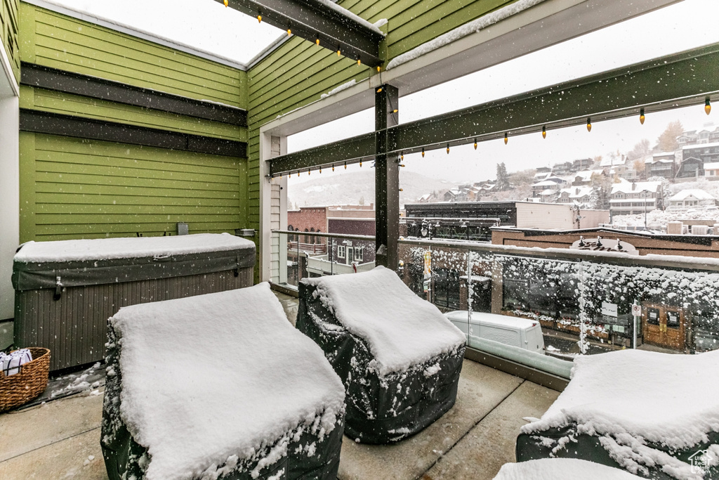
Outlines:
{"type": "MultiPolygon", "coordinates": [[[[719,0],[684,0],[656,12],[631,19],[622,24],[592,32],[522,58],[487,68],[455,81],[400,98],[400,122],[450,112],[482,104],[571,78],[607,71],[668,53],[719,42],[719,0]],[[531,74],[528,74],[531,73],[531,74]]],[[[406,169],[426,176],[449,181],[468,182],[493,178],[497,163],[505,162],[508,171],[573,160],[574,158],[607,155],[620,150],[626,153],[643,138],[654,146],[656,138],[674,119],[687,129],[701,128],[712,122],[719,109],[709,117],[703,106],[669,110],[647,115],[641,125],[638,118],[617,119],[586,127],[549,130],[546,139],[539,133],[503,140],[406,155],[406,169]]],[[[354,114],[332,124],[293,135],[288,141],[290,151],[359,135],[373,130],[372,110],[354,114]]],[[[717,121],[719,124],[719,120],[717,121]]],[[[359,168],[350,166],[349,168],[359,168]]],[[[311,177],[314,178],[314,177],[311,177]]],[[[308,180],[308,176],[291,177],[292,184],[308,180]]]]}

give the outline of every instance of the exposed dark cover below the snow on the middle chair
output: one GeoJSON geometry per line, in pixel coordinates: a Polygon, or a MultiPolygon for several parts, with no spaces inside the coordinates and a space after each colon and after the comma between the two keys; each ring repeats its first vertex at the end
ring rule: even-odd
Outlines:
{"type": "MultiPolygon", "coordinates": [[[[454,406],[464,344],[404,371],[380,376],[372,368],[374,357],[367,340],[342,327],[319,300],[316,286],[301,282],[299,296],[296,327],[320,345],[344,383],[344,431],[349,438],[359,443],[397,442],[420,432],[454,406]],[[428,369],[437,367],[437,373],[427,375],[428,369]]],[[[391,321],[398,314],[403,312],[386,312],[386,319],[391,321]]]]}

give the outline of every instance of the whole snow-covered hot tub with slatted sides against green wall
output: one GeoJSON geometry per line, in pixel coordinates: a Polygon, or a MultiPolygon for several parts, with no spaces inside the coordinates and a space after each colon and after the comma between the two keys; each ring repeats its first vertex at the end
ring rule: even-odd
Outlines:
{"type": "Polygon", "coordinates": [[[15,345],[50,370],[105,357],[120,307],[252,285],[255,244],[223,234],[28,242],[14,258],[15,345]]]}

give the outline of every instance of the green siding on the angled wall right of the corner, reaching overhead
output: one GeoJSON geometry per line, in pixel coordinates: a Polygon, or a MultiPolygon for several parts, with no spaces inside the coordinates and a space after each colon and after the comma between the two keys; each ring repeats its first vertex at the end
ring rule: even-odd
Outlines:
{"type": "MultiPolygon", "coordinates": [[[[515,0],[344,0],[339,4],[354,14],[377,22],[388,19],[388,32],[380,52],[385,65],[462,24],[515,0]]],[[[361,81],[375,71],[338,57],[312,42],[293,38],[267,55],[249,71],[249,225],[260,225],[260,127],[321,98],[336,86],[352,79],[361,81]]]]}

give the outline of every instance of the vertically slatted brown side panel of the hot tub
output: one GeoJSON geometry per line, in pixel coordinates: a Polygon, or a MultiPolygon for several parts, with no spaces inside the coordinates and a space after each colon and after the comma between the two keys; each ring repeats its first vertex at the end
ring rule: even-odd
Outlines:
{"type": "Polygon", "coordinates": [[[254,268],[173,279],[64,289],[57,302],[54,289],[15,292],[15,344],[50,349],[50,371],[105,358],[107,320],[121,307],[240,289],[252,285],[254,268]]]}

